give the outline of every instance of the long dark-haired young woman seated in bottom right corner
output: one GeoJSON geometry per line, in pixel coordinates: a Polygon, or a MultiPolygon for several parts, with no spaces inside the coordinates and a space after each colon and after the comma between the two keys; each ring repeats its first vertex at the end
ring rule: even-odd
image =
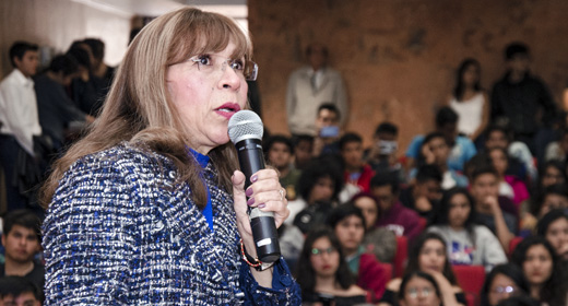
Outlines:
{"type": "Polygon", "coordinates": [[[543,237],[524,238],[511,255],[529,283],[529,294],[542,305],[566,305],[565,272],[554,247],[543,237]]]}

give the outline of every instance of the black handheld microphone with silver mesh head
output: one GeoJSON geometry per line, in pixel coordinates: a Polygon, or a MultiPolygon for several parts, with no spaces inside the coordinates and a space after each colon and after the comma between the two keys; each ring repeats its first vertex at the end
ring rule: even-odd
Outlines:
{"type": "MultiPolygon", "coordinates": [[[[262,156],[263,126],[260,117],[251,110],[240,110],[228,120],[228,137],[237,149],[240,170],[245,174],[245,190],[251,185],[250,177],[264,168],[262,156]]],[[[273,212],[249,208],[252,238],[260,261],[271,263],[280,258],[280,244],[273,212]]]]}

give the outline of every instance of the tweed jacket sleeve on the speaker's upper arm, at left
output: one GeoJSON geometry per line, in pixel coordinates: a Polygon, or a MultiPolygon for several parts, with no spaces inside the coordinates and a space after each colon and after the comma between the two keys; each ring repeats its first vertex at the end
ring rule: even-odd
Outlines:
{"type": "Polygon", "coordinates": [[[119,166],[76,163],[44,223],[45,305],[130,305],[132,188],[119,166]]]}

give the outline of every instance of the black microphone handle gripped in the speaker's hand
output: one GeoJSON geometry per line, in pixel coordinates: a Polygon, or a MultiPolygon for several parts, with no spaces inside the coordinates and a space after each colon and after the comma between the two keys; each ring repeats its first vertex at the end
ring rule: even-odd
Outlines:
{"type": "MultiPolygon", "coordinates": [[[[239,141],[237,149],[240,170],[245,174],[245,189],[251,183],[250,177],[264,168],[262,145],[259,139],[245,139],[239,141]]],[[[271,263],[280,258],[280,244],[273,212],[263,212],[258,208],[249,208],[250,227],[257,248],[257,256],[262,262],[271,263]]]]}

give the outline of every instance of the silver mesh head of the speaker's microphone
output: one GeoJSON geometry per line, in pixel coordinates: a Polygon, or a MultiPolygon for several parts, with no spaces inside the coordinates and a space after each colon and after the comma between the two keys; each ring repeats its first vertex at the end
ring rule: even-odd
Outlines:
{"type": "Polygon", "coordinates": [[[264,129],[259,115],[252,110],[240,110],[228,120],[228,138],[233,143],[245,139],[262,140],[264,129]]]}

